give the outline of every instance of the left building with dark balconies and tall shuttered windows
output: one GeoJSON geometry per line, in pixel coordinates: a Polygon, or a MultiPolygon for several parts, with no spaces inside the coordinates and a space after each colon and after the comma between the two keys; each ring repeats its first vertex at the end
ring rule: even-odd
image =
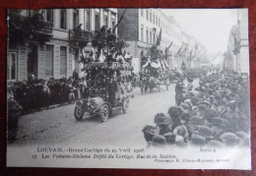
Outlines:
{"type": "Polygon", "coordinates": [[[75,69],[82,76],[81,42],[116,23],[117,10],[110,8],[8,11],[7,80],[70,77],[75,69]]]}

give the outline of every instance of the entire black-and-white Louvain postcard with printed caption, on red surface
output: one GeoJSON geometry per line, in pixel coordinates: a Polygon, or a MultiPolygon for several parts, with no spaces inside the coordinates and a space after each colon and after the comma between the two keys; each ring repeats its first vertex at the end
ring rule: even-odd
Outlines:
{"type": "Polygon", "coordinates": [[[251,169],[248,9],[8,9],[6,23],[7,166],[251,169]]]}

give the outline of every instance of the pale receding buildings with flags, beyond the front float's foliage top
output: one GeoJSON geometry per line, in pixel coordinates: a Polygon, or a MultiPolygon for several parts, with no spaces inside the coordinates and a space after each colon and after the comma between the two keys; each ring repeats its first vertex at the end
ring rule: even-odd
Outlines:
{"type": "MultiPolygon", "coordinates": [[[[125,9],[118,9],[118,16],[124,11],[125,9]]],[[[195,53],[199,51],[200,45],[172,17],[166,16],[161,9],[126,9],[118,26],[118,35],[129,43],[128,50],[133,56],[135,72],[140,71],[142,58],[156,44],[160,32],[160,50],[167,55],[166,61],[170,69],[181,69],[182,65],[186,68],[199,67],[200,61],[195,53]]]]}

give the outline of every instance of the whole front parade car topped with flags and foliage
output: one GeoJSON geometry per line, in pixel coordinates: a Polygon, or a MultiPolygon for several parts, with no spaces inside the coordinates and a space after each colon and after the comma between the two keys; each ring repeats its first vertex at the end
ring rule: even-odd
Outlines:
{"type": "Polygon", "coordinates": [[[88,96],[77,101],[74,116],[81,121],[98,115],[102,122],[111,114],[126,113],[132,97],[130,58],[125,57],[126,43],[113,30],[102,27],[82,49],[80,63],[84,65],[88,96]],[[90,47],[90,49],[88,49],[90,47]],[[86,51],[85,51],[86,48],[86,51]]]}

